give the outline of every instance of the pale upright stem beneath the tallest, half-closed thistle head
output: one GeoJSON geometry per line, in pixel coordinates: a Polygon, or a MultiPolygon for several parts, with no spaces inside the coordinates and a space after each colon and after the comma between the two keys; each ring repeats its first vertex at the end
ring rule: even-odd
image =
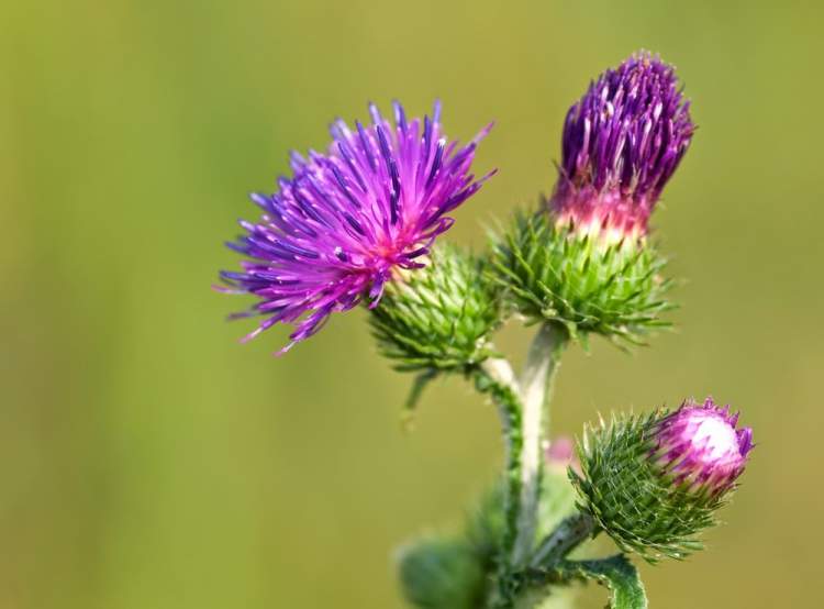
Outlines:
{"type": "Polygon", "coordinates": [[[530,345],[526,364],[521,375],[520,392],[523,403],[521,416],[521,455],[519,514],[516,535],[512,547],[513,567],[523,566],[532,553],[537,519],[537,506],[543,473],[543,443],[549,419],[549,400],[560,356],[567,343],[567,330],[557,323],[541,326],[530,345]]]}

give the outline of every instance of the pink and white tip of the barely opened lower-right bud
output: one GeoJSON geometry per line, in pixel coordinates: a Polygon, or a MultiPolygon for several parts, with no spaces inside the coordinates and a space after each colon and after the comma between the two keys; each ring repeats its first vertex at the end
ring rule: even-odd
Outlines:
{"type": "Polygon", "coordinates": [[[655,425],[650,456],[675,485],[720,496],[734,487],[753,450],[753,430],[737,422],[712,398],[703,406],[688,400],[655,425]]]}

